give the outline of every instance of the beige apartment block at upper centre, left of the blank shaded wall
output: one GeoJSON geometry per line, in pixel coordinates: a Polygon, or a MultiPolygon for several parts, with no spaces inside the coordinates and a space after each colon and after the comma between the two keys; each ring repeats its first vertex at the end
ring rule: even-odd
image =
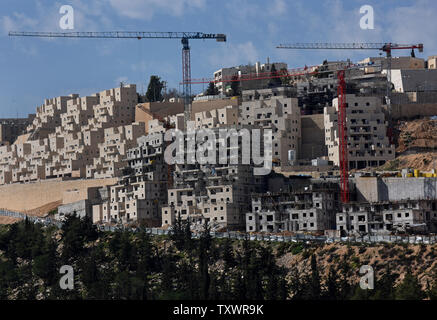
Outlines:
{"type": "Polygon", "coordinates": [[[288,87],[243,91],[240,124],[272,129],[273,158],[288,164],[288,153],[299,154],[301,116],[298,101],[288,87]]]}

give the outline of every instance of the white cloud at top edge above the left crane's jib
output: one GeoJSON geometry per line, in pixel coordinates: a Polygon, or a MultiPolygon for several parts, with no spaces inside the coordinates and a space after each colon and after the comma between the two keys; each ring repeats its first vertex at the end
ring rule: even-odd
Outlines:
{"type": "Polygon", "coordinates": [[[155,13],[182,16],[186,9],[201,9],[206,0],[109,0],[118,14],[133,19],[150,20],[155,13]]]}

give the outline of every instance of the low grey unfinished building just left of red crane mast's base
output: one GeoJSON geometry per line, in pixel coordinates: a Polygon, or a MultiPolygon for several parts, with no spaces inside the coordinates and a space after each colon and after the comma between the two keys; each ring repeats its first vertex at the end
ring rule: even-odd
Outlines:
{"type": "Polygon", "coordinates": [[[252,196],[247,232],[317,232],[335,229],[338,184],[309,181],[292,190],[252,196]]]}

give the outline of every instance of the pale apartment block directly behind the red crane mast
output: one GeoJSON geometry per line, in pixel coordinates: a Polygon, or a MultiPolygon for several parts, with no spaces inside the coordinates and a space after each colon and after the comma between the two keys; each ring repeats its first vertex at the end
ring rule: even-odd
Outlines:
{"type": "MultiPolygon", "coordinates": [[[[383,165],[395,158],[395,146],[387,137],[387,121],[377,97],[346,95],[346,126],[349,169],[383,165]]],[[[338,98],[324,108],[325,143],[328,158],[340,164],[338,98]]]]}

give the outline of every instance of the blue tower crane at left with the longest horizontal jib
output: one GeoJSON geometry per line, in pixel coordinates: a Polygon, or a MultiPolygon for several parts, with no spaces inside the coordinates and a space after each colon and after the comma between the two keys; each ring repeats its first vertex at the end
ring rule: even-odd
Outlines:
{"type": "Polygon", "coordinates": [[[225,42],[226,35],[203,32],[9,32],[10,37],[45,37],[45,38],[101,38],[101,39],[181,39],[182,43],[182,83],[184,86],[185,121],[191,117],[191,58],[189,39],[215,39],[225,42]]]}

